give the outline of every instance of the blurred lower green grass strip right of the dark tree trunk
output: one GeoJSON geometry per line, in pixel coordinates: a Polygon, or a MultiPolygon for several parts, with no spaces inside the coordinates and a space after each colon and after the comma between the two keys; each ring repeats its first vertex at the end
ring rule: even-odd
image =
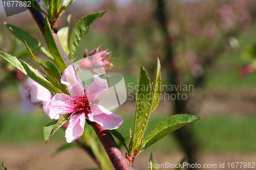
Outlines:
{"type": "Polygon", "coordinates": [[[208,117],[191,125],[201,150],[256,151],[256,116],[208,117]]]}

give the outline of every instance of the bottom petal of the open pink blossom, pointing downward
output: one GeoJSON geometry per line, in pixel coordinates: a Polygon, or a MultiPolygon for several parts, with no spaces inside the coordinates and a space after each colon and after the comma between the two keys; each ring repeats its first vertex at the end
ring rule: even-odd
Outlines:
{"type": "Polygon", "coordinates": [[[84,113],[73,114],[70,116],[69,126],[66,129],[65,134],[68,143],[71,143],[72,141],[82,136],[85,123],[86,115],[84,113]]]}

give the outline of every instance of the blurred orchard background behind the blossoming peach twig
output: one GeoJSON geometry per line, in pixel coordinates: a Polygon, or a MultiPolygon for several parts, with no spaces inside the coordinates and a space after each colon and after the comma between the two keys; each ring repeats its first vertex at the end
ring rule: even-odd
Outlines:
{"type": "MultiPolygon", "coordinates": [[[[26,52],[24,43],[11,34],[4,21],[30,32],[46,46],[29,11],[6,17],[1,6],[0,51],[17,57],[26,52]]],[[[156,57],[162,66],[162,84],[168,88],[162,91],[163,99],[152,114],[147,134],[172,114],[203,118],[145,150],[135,160],[135,169],[148,169],[151,152],[158,163],[177,163],[186,157],[190,163],[216,163],[215,169],[220,162],[255,162],[255,1],[77,0],[58,26],[65,24],[69,14],[73,28],[81,17],[101,10],[106,13],[93,23],[75,56],[81,59],[85,49],[90,52],[99,45],[100,50],[112,52],[115,59],[110,72],[123,74],[127,92],[131,92],[115,111],[124,117],[119,132],[129,138],[137,72],[142,65],[152,79],[156,57]],[[169,85],[193,85],[193,89],[170,90],[169,85]],[[178,93],[186,99],[168,97],[178,93]]],[[[51,120],[41,106],[20,113],[20,83],[14,78],[13,66],[2,58],[0,62],[0,161],[5,161],[8,169],[95,167],[78,148],[52,155],[66,142],[65,132],[59,130],[45,144],[42,127],[51,120]]]]}

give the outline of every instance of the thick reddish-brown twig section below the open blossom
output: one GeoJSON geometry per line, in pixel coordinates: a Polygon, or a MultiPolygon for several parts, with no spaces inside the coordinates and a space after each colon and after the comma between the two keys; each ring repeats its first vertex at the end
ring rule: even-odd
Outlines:
{"type": "Polygon", "coordinates": [[[100,142],[102,143],[115,169],[116,170],[133,170],[133,167],[130,167],[127,159],[123,156],[123,154],[119,150],[111,133],[103,129],[96,122],[90,122],[90,120],[87,119],[87,123],[93,127],[94,131],[96,132],[100,142]]]}

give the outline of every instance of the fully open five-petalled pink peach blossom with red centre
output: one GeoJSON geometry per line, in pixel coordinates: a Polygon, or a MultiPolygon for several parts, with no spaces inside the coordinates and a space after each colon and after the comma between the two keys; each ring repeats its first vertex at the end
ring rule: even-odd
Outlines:
{"type": "Polygon", "coordinates": [[[94,81],[86,88],[78,82],[75,70],[69,66],[63,72],[61,83],[67,85],[68,94],[55,94],[48,106],[50,118],[58,114],[70,114],[69,126],[66,129],[66,139],[70,143],[79,138],[88,118],[104,129],[117,129],[123,122],[122,116],[116,115],[103,106],[98,105],[99,96],[108,90],[106,80],[94,75],[94,81]]]}

